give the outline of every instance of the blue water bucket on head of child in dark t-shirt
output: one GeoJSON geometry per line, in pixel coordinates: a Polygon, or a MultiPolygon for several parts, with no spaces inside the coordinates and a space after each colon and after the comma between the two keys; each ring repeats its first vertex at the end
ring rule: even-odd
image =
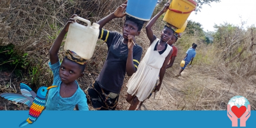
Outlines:
{"type": "Polygon", "coordinates": [[[157,0],[128,0],[126,14],[139,20],[150,20],[157,0]]]}

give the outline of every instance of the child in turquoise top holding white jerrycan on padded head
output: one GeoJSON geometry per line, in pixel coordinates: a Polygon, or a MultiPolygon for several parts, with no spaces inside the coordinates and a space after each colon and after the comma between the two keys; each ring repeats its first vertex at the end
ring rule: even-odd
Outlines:
{"type": "Polygon", "coordinates": [[[73,15],[69,19],[49,51],[49,67],[52,69],[54,77],[52,85],[57,85],[58,87],[49,91],[45,110],[74,110],[75,107],[76,110],[89,110],[86,95],[76,81],[76,79],[84,75],[86,60],[70,50],[65,51],[66,56],[62,63],[58,58],[62,40],[68,31],[70,23],[75,22],[73,19],[75,16],[73,15]]]}

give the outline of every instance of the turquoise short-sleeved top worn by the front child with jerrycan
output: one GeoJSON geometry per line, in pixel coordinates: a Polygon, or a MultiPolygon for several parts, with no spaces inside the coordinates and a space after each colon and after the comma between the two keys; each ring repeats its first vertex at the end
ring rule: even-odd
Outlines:
{"type": "Polygon", "coordinates": [[[83,90],[79,87],[79,84],[76,81],[78,86],[76,92],[71,97],[62,98],[60,95],[61,88],[61,78],[59,76],[59,69],[61,63],[58,61],[56,64],[48,63],[49,67],[52,69],[53,73],[53,84],[58,87],[53,87],[49,89],[49,93],[46,101],[45,110],[67,110],[72,111],[78,105],[79,110],[85,111],[89,110],[87,105],[87,98],[83,90]]]}

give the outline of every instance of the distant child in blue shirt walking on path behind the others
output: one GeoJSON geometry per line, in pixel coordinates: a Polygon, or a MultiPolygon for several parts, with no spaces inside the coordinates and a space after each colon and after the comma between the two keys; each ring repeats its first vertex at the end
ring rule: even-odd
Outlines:
{"type": "Polygon", "coordinates": [[[189,66],[191,66],[193,59],[195,58],[195,48],[197,47],[197,44],[193,44],[192,48],[189,48],[186,52],[186,56],[184,57],[184,61],[185,61],[185,65],[184,67],[180,67],[180,71],[179,74],[176,77],[181,76],[181,72],[185,69],[185,67],[187,66],[187,64],[189,64],[189,62],[191,61],[191,63],[189,64],[189,66]]]}

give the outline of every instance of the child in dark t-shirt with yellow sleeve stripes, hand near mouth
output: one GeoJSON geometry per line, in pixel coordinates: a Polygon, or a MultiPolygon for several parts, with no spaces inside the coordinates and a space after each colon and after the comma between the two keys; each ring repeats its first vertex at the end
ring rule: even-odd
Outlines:
{"type": "Polygon", "coordinates": [[[96,110],[115,110],[125,73],[132,76],[140,64],[143,52],[138,44],[134,46],[135,36],[140,34],[145,21],[126,15],[122,34],[108,31],[102,27],[110,20],[124,17],[126,3],[119,6],[113,13],[99,20],[99,39],[106,42],[108,55],[97,79],[86,90],[88,104],[96,110]],[[134,43],[133,43],[134,42],[134,43]]]}

